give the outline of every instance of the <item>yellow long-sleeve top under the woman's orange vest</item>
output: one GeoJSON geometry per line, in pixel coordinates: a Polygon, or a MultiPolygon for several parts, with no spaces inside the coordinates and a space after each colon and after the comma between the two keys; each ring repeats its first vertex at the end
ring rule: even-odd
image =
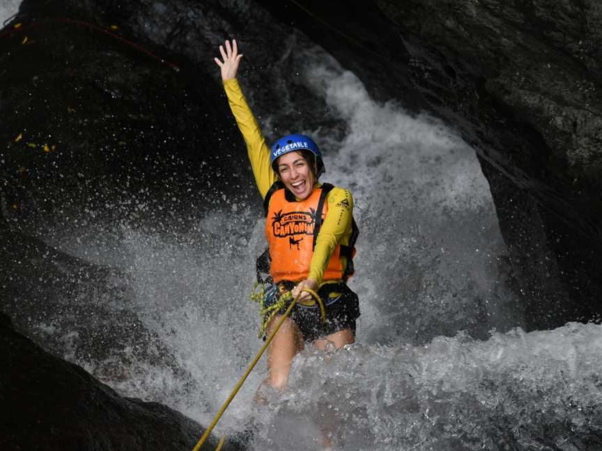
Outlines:
{"type": "MultiPolygon", "coordinates": [[[[236,79],[224,80],[224,89],[228,96],[228,102],[238,129],[242,133],[247,145],[247,154],[255,176],[255,182],[261,198],[265,198],[268,190],[278,176],[272,170],[270,164],[270,149],[265,144],[265,138],[261,129],[253,116],[245,96],[236,79]]],[[[327,267],[328,260],[338,244],[349,245],[352,232],[353,218],[353,198],[351,193],[343,188],[334,187],[326,196],[328,211],[322,223],[320,232],[316,239],[314,255],[309,264],[309,278],[316,280],[318,285],[322,283],[337,282],[339,280],[323,280],[324,270],[327,267]]],[[[345,259],[345,257],[341,257],[345,259]]],[[[342,262],[343,267],[346,262],[342,262]]]]}

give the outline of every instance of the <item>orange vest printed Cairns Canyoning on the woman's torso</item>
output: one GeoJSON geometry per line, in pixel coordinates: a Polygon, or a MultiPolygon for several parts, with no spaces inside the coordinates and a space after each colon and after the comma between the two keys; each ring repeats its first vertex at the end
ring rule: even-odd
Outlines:
{"type": "MultiPolygon", "coordinates": [[[[265,237],[268,238],[272,260],[270,275],[275,283],[281,280],[297,282],[309,275],[309,264],[314,255],[316,209],[321,192],[322,188],[318,187],[304,200],[287,200],[284,189],[272,193],[265,219],[265,237]]],[[[322,218],[327,212],[328,205],[324,202],[322,218]]],[[[341,280],[347,275],[341,263],[339,244],[330,256],[323,279],[341,280]]]]}

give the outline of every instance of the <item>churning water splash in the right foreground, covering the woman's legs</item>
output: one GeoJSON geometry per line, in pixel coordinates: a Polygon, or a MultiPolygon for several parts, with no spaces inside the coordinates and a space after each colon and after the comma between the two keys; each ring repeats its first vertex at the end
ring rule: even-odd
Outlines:
{"type": "Polygon", "coordinates": [[[344,450],[600,449],[601,347],[601,326],[567,324],[306,351],[253,449],[320,450],[325,436],[344,450]]]}

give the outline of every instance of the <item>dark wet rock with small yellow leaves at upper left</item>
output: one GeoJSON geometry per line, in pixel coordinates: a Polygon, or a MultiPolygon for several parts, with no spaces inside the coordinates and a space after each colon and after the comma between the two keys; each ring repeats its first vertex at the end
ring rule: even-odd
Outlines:
{"type": "Polygon", "coordinates": [[[24,1],[1,34],[6,221],[43,232],[84,208],[118,221],[144,205],[157,223],[224,193],[245,200],[249,174],[225,177],[246,155],[213,72],[95,14],[89,1],[24,1]]]}

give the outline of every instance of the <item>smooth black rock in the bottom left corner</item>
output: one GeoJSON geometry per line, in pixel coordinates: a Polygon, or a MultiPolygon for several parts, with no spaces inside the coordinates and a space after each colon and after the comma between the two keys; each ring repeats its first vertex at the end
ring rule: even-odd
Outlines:
{"type": "MultiPolygon", "coordinates": [[[[181,413],[120,397],[77,365],[48,354],[2,313],[0,354],[5,450],[192,450],[203,434],[181,413]]],[[[206,447],[216,445],[210,438],[206,447]]]]}

